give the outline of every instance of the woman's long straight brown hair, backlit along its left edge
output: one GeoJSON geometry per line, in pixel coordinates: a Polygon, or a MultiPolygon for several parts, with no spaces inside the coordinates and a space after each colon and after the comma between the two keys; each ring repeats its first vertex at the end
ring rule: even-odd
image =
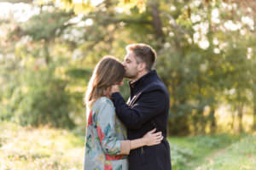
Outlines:
{"type": "Polygon", "coordinates": [[[91,108],[96,99],[105,96],[104,91],[125,77],[125,68],[118,59],[105,56],[96,65],[85,94],[85,104],[91,108]]]}

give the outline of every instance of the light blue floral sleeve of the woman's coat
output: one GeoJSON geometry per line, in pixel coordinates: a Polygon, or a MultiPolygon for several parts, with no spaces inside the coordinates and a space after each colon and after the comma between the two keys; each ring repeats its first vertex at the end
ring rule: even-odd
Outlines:
{"type": "Polygon", "coordinates": [[[121,141],[115,132],[115,111],[111,100],[104,99],[98,105],[96,117],[96,130],[102,144],[102,149],[108,155],[121,154],[121,141]]]}

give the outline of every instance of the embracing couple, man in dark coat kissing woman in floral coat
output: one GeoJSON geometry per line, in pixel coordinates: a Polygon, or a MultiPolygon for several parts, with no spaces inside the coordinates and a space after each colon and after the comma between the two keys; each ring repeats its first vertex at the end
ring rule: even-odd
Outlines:
{"type": "Polygon", "coordinates": [[[126,47],[123,63],[104,57],[93,71],[84,170],[171,170],[166,139],[169,94],[153,70],[156,53],[142,43],[126,47]],[[130,98],[119,94],[129,78],[130,98]]]}

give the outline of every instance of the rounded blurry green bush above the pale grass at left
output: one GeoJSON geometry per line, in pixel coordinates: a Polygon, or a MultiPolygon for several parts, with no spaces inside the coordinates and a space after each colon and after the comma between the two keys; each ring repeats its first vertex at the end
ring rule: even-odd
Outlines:
{"type": "MultiPolygon", "coordinates": [[[[66,82],[55,77],[55,69],[28,71],[17,81],[9,100],[12,120],[21,125],[74,127],[69,117],[70,96],[66,82]],[[20,82],[20,85],[18,83],[20,82]]],[[[10,114],[5,114],[10,115],[10,114]]]]}

